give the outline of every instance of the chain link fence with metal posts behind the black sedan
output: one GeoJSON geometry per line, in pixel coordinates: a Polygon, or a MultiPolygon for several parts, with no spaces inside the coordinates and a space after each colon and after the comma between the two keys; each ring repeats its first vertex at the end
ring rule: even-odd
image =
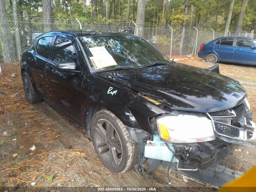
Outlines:
{"type": "MultiPolygon", "coordinates": [[[[43,18],[23,18],[14,23],[11,14],[0,20],[0,66],[2,72],[12,73],[19,71],[20,49],[29,45],[37,36],[46,32],[43,18]],[[18,29],[18,30],[17,30],[18,29]],[[18,31],[16,35],[15,31],[18,31]],[[17,37],[19,41],[17,41],[17,37]],[[12,46],[10,46],[12,45],[12,46]],[[11,47],[11,50],[8,50],[11,47]]],[[[82,20],[76,18],[54,18],[50,23],[52,30],[103,30],[126,32],[140,36],[169,58],[193,57],[197,54],[200,45],[214,38],[222,37],[224,32],[214,32],[207,29],[178,28],[169,25],[155,26],[150,24],[136,26],[134,22],[114,22],[106,20],[82,20]]],[[[234,35],[230,34],[229,35],[234,35]]],[[[249,34],[248,34],[249,35],[249,34]]],[[[253,36],[253,32],[250,36],[253,36]]],[[[241,33],[240,36],[244,36],[241,33]]],[[[246,34],[247,36],[247,34],[246,34]]]]}

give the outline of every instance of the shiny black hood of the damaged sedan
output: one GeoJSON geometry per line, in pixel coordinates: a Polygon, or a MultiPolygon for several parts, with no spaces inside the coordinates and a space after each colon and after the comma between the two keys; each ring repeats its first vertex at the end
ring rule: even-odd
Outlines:
{"type": "Polygon", "coordinates": [[[238,81],[181,63],[97,75],[176,110],[214,112],[237,106],[246,99],[246,91],[238,81]]]}

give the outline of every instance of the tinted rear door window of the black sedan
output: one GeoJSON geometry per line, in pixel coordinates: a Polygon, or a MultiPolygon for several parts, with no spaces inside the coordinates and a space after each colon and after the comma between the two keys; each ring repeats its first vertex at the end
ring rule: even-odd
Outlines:
{"type": "Polygon", "coordinates": [[[36,46],[36,52],[45,58],[49,58],[50,46],[52,44],[53,37],[44,37],[38,40],[38,44],[36,46]]]}

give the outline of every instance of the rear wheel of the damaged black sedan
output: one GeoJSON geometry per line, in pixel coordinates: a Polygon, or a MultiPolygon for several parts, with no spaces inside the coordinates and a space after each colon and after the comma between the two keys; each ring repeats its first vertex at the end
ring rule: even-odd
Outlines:
{"type": "Polygon", "coordinates": [[[28,102],[37,103],[42,101],[42,97],[34,90],[27,72],[23,73],[22,82],[28,102]]]}

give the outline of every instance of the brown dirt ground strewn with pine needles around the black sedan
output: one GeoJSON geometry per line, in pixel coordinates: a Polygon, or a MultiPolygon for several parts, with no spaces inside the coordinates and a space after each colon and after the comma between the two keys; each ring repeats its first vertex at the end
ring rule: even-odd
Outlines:
{"type": "MultiPolygon", "coordinates": [[[[198,58],[177,62],[202,68],[212,66],[198,58]]],[[[256,67],[220,63],[220,72],[238,80],[248,92],[251,111],[256,110],[256,67]]],[[[2,69],[4,71],[4,69],[2,69]]],[[[166,170],[146,176],[132,170],[109,172],[100,162],[92,142],[81,128],[46,102],[29,104],[20,74],[0,75],[0,186],[26,187],[161,187],[170,190],[166,170]]],[[[254,118],[255,119],[255,118],[254,118]]],[[[246,171],[256,164],[256,148],[238,147],[228,156],[229,167],[246,171]]],[[[147,165],[145,165],[147,169],[147,165]]],[[[174,191],[215,191],[179,174],[170,173],[174,191]],[[180,188],[180,186],[185,188],[180,188]],[[189,188],[193,186],[194,188],[189,188]]]]}

